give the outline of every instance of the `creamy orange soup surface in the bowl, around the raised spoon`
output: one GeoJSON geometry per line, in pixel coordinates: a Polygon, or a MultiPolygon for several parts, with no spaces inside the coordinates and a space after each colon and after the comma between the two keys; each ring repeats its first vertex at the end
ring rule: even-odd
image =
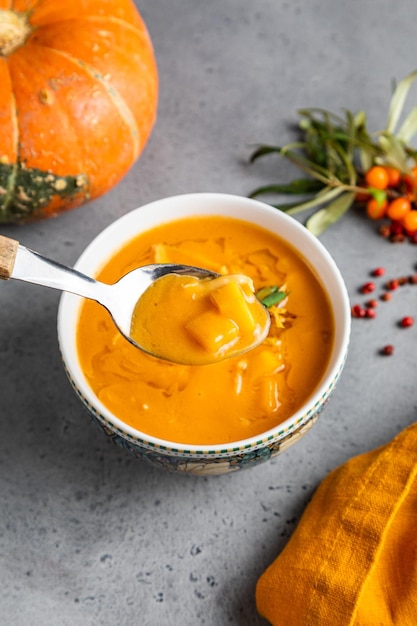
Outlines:
{"type": "Polygon", "coordinates": [[[301,408],[331,357],[334,319],[324,288],[300,252],[254,224],[197,216],[133,238],[97,278],[113,283],[149,263],[243,274],[256,290],[278,286],[287,297],[269,309],[269,334],[258,347],[193,366],[141,352],[120,335],[103,307],[84,301],[77,327],[80,365],[114,415],[154,437],[204,445],[256,436],[301,408]]]}

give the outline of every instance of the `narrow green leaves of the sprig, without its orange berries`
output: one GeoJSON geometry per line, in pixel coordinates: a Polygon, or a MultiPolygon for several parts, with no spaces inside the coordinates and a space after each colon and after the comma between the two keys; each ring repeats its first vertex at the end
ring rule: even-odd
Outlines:
{"type": "MultiPolygon", "coordinates": [[[[417,151],[409,146],[417,132],[417,106],[399,124],[408,92],[416,78],[417,70],[394,88],[386,127],[372,134],[367,130],[363,111],[353,114],[345,110],[344,116],[321,108],[298,111],[303,140],[282,147],[260,145],[252,153],[250,162],[278,154],[294,163],[305,176],[289,183],[258,187],[250,197],[302,196],[301,201],[273,206],[292,215],[317,209],[307,219],[306,226],[318,236],[351,208],[357,194],[364,193],[361,182],[372,165],[394,167],[402,174],[410,172],[417,162],[417,151]]],[[[368,187],[365,193],[377,202],[386,198],[385,192],[372,187],[368,187]]],[[[395,194],[395,191],[389,193],[395,194]]]]}

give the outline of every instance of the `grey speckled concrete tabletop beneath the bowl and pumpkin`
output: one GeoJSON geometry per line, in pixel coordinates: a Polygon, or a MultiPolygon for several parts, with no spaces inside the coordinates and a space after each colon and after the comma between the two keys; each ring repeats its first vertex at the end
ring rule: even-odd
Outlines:
{"type": "MultiPolygon", "coordinates": [[[[385,123],[392,80],[417,64],[412,0],[138,0],[160,74],[158,121],[128,176],[58,219],[0,232],[72,264],[103,227],[171,194],[247,195],[285,180],[252,146],[293,138],[296,110],[364,109],[385,123]]],[[[417,95],[414,91],[414,101],[417,95]]],[[[321,240],[352,301],[378,265],[408,274],[353,211],[321,240]]],[[[1,626],[261,626],[255,585],[321,479],[416,419],[417,288],[354,320],[336,392],[317,425],[275,460],[221,477],[164,473],[90,423],[63,372],[59,294],[0,285],[1,626]],[[378,355],[393,343],[395,355],[378,355]]],[[[313,539],[313,538],[312,538],[313,539]]],[[[283,625],[284,626],[284,625],[283,625]]],[[[285,626],[291,626],[286,624],[285,626]]]]}

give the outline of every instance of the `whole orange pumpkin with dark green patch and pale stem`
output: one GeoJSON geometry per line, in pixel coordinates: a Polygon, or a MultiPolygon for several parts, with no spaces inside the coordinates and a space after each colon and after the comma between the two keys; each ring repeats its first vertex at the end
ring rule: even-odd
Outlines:
{"type": "Polygon", "coordinates": [[[109,191],[147,142],[157,91],[132,0],[0,0],[0,222],[109,191]]]}

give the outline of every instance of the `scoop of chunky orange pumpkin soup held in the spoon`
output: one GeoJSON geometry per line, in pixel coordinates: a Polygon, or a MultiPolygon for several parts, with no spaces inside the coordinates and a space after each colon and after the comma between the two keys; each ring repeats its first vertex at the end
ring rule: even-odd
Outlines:
{"type": "Polygon", "coordinates": [[[248,276],[201,279],[172,273],[139,298],[130,337],[173,363],[207,365],[254,348],[266,339],[269,326],[268,311],[248,276]]]}

